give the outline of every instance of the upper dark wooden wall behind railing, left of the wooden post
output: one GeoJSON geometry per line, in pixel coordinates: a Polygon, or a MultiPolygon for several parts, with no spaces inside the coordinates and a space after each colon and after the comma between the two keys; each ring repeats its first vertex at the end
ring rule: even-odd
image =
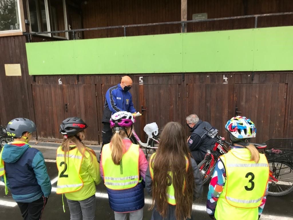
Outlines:
{"type": "MultiPolygon", "coordinates": [[[[99,0],[81,4],[83,27],[180,21],[180,0],[99,0]]],[[[180,25],[127,28],[127,36],[180,32],[180,25]]],[[[123,28],[85,31],[84,38],[124,36],[123,28]]]]}

